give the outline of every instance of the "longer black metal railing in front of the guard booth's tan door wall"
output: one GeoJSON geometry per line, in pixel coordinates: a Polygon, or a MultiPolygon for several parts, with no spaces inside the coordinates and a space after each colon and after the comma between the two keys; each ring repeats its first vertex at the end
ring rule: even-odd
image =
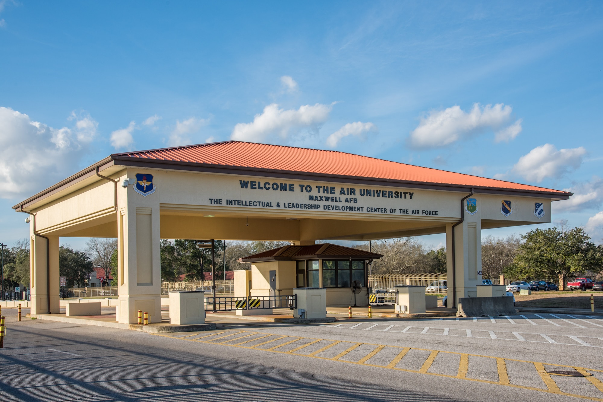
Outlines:
{"type": "Polygon", "coordinates": [[[267,308],[297,308],[297,295],[209,297],[205,298],[205,311],[263,310],[267,308]]]}

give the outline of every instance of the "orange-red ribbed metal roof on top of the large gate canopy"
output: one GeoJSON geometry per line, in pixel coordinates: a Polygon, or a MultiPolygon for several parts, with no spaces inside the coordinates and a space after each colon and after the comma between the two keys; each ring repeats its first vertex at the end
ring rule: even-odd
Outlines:
{"type": "Polygon", "coordinates": [[[315,173],[361,178],[402,180],[405,182],[459,185],[463,187],[537,191],[569,196],[571,193],[549,188],[488,179],[470,174],[455,173],[352,153],[285,147],[254,142],[224,141],[183,147],[125,152],[115,156],[153,159],[165,162],[224,167],[256,168],[262,170],[315,173]]]}

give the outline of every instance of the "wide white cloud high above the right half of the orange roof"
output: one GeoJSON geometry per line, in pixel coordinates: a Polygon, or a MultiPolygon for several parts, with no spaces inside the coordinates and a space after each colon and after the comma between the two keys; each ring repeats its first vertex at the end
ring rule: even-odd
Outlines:
{"type": "Polygon", "coordinates": [[[475,103],[470,112],[464,112],[458,105],[434,110],[421,118],[408,138],[409,144],[415,148],[444,147],[487,129],[497,131],[497,142],[508,141],[521,131],[521,120],[505,127],[511,120],[511,112],[511,106],[504,103],[484,107],[475,103]]]}

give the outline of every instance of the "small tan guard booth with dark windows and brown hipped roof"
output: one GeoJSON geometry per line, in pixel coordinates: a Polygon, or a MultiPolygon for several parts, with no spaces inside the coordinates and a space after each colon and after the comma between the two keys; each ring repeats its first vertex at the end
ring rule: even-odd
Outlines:
{"type": "MultiPolygon", "coordinates": [[[[284,246],[239,258],[251,263],[250,296],[292,295],[294,288],[326,288],[327,307],[368,305],[367,264],[380,254],[322,243],[284,246]],[[356,290],[356,292],[353,292],[356,290]]],[[[247,281],[235,281],[235,294],[244,294],[247,281]]]]}

